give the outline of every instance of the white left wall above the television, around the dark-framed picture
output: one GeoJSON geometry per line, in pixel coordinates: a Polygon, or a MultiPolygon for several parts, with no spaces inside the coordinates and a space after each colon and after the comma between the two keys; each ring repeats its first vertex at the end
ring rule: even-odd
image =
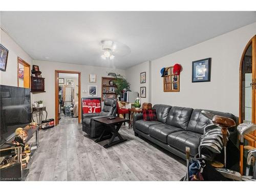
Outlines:
{"type": "MultiPolygon", "coordinates": [[[[17,58],[20,57],[25,60],[29,65],[32,65],[32,58],[20,48],[16,42],[7,35],[2,29],[0,29],[0,43],[6,49],[8,49],[8,59],[6,71],[0,71],[0,84],[6,86],[18,86],[17,77],[17,58]]],[[[32,67],[32,66],[31,66],[32,67]]]]}

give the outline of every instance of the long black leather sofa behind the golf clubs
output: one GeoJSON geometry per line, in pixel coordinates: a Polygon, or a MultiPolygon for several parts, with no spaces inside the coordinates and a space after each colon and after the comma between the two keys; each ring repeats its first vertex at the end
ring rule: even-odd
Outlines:
{"type": "MultiPolygon", "coordinates": [[[[183,108],[165,104],[155,104],[153,109],[157,113],[157,121],[144,121],[142,114],[134,114],[133,129],[135,136],[142,136],[165,150],[185,159],[185,147],[190,147],[190,155],[198,154],[200,137],[204,127],[213,124],[206,118],[201,109],[183,108]]],[[[237,122],[237,118],[230,113],[209,111],[215,115],[228,117],[237,122]]],[[[230,136],[235,127],[229,129],[230,136]]]]}

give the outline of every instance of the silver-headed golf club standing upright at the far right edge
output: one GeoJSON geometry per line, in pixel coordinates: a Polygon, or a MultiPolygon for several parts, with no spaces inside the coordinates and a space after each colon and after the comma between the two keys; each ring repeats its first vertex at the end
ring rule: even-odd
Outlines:
{"type": "Polygon", "coordinates": [[[256,124],[241,123],[237,127],[240,139],[240,173],[243,175],[244,136],[256,130],[256,124]]]}

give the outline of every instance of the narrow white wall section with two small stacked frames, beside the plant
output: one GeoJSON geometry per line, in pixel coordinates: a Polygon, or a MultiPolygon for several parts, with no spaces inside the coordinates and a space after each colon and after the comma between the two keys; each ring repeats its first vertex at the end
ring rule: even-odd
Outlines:
{"type": "Polygon", "coordinates": [[[141,103],[151,102],[151,61],[146,61],[125,70],[127,81],[131,83],[131,90],[140,95],[140,87],[146,87],[146,98],[140,98],[141,103]],[[146,72],[146,82],[140,83],[140,73],[146,72]]]}

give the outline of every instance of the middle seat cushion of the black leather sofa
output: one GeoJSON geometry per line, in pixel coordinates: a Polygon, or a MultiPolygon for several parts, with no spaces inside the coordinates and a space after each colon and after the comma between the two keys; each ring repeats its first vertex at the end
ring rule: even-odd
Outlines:
{"type": "Polygon", "coordinates": [[[169,134],[178,131],[183,131],[183,129],[168,124],[155,124],[151,125],[148,129],[151,137],[154,137],[164,143],[167,143],[167,136],[169,134]]]}

